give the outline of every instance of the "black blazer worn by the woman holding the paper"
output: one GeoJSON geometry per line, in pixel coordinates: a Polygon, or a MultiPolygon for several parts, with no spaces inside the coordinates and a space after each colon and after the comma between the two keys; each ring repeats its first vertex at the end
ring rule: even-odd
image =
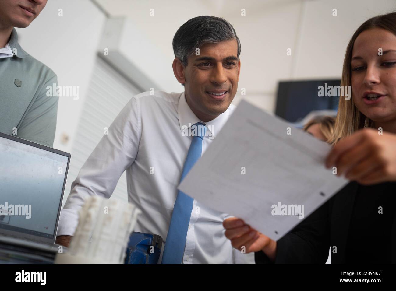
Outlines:
{"type": "MultiPolygon", "coordinates": [[[[395,185],[396,183],[389,185],[389,193],[393,195],[396,195],[395,185]]],[[[324,264],[329,256],[330,246],[337,246],[337,253],[331,252],[331,263],[346,263],[348,228],[357,189],[358,183],[350,182],[280,238],[277,242],[275,263],[324,264]]],[[[391,240],[391,261],[396,263],[396,215],[392,224],[391,240]]],[[[273,263],[263,251],[255,253],[255,262],[273,263]]]]}

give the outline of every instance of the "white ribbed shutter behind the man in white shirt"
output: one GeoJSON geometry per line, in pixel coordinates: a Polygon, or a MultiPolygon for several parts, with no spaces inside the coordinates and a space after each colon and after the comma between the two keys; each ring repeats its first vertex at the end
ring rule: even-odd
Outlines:
{"type": "MultiPolygon", "coordinates": [[[[103,59],[97,57],[70,153],[71,160],[63,204],[82,165],[103,137],[104,128],[109,127],[129,99],[139,93],[141,90],[103,59]]],[[[128,201],[126,172],[120,177],[110,199],[128,201]]]]}

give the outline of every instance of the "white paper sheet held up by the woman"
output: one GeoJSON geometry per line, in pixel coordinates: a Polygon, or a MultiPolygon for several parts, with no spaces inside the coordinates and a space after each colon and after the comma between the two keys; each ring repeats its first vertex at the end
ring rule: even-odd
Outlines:
{"type": "Polygon", "coordinates": [[[329,151],[326,143],[241,101],[179,189],[278,240],[348,183],[324,166],[329,151]]]}

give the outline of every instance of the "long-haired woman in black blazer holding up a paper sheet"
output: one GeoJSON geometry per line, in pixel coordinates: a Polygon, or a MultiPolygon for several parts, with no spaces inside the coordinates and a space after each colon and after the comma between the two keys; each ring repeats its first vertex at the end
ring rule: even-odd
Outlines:
{"type": "Polygon", "coordinates": [[[225,220],[233,247],[257,263],[324,263],[330,246],[332,263],[396,262],[396,13],[356,30],[341,85],[352,98],[340,97],[326,166],[351,182],[277,242],[225,220]]]}

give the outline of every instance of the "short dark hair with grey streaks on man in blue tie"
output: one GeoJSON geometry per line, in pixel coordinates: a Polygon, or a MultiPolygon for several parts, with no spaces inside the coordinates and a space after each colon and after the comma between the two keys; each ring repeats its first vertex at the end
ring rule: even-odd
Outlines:
{"type": "Polygon", "coordinates": [[[187,66],[187,58],[207,43],[218,43],[224,40],[236,40],[238,43],[238,59],[241,43],[234,27],[227,20],[215,16],[198,16],[183,24],[173,37],[173,52],[183,66],[187,66]]]}

